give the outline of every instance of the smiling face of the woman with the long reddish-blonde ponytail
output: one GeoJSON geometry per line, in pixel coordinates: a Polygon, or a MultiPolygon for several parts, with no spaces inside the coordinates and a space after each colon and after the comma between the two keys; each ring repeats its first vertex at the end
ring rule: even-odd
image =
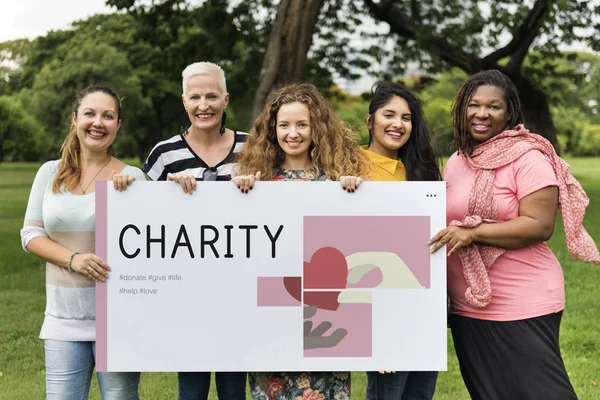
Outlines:
{"type": "Polygon", "coordinates": [[[115,99],[103,92],[86,95],[73,114],[73,124],[82,148],[107,151],[121,127],[115,99]]]}

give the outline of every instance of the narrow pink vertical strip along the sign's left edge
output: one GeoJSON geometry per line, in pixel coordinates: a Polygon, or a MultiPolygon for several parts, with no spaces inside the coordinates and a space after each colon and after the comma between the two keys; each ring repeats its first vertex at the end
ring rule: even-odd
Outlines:
{"type": "MultiPolygon", "coordinates": [[[[96,255],[107,260],[107,181],[96,182],[96,255]]],[[[106,282],[96,283],[96,370],[106,372],[108,368],[108,315],[106,282]]]]}

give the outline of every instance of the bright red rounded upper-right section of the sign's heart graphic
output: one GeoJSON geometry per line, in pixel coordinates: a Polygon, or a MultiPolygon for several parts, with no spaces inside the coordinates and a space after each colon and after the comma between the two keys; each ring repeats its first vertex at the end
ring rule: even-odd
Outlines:
{"type": "MultiPolygon", "coordinates": [[[[304,259],[308,260],[306,252],[304,255],[304,259]]],[[[345,289],[347,277],[346,257],[336,248],[316,249],[311,254],[310,262],[304,261],[305,289],[345,289]]]]}

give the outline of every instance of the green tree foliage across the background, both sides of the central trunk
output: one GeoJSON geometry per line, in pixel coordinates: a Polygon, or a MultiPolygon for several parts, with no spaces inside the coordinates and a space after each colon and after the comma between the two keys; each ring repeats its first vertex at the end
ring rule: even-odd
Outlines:
{"type": "MultiPolygon", "coordinates": [[[[117,151],[144,159],[155,143],[187,123],[181,71],[208,60],[226,72],[228,125],[244,130],[276,3],[108,0],[120,12],[76,21],[72,30],[35,40],[0,43],[0,95],[18,102],[44,127],[48,143],[37,156],[48,158],[56,156],[66,132],[75,90],[90,83],[113,86],[125,97],[117,151]]],[[[573,140],[581,135],[575,133],[600,124],[600,62],[591,54],[560,53],[558,47],[580,41],[598,48],[600,31],[593,28],[598,28],[600,10],[593,2],[326,0],[306,80],[336,103],[364,140],[367,103],[340,93],[334,79],[355,79],[365,71],[387,80],[427,74],[409,86],[419,92],[438,150],[446,153],[452,135],[449,107],[467,76],[459,70],[494,62],[509,68],[517,57],[506,50],[510,38],[522,34],[523,21],[542,3],[548,11],[519,68],[547,96],[552,111],[547,119],[552,116],[559,140],[576,154],[573,140]],[[376,14],[373,6],[385,7],[385,15],[376,14]],[[389,16],[403,23],[404,31],[384,22],[389,16]],[[451,69],[452,60],[459,64],[456,69],[451,69]],[[435,78],[427,83],[426,76],[435,78]]]]}

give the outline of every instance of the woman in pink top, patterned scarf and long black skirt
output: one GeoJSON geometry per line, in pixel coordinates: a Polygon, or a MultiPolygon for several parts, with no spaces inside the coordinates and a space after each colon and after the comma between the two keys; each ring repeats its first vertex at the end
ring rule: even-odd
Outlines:
{"type": "Polygon", "coordinates": [[[571,254],[600,262],[581,222],[589,199],[552,145],[522,125],[517,90],[499,71],[472,76],[452,110],[448,228],[449,324],[473,399],[576,399],[558,334],[561,266],[546,245],[557,210],[571,254]]]}

